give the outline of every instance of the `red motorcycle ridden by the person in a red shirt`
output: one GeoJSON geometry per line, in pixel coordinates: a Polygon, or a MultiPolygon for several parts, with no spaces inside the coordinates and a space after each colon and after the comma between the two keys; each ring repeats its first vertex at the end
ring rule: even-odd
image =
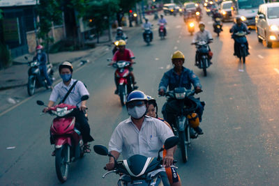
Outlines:
{"type": "MultiPolygon", "coordinates": [[[[117,68],[115,73],[118,78],[118,94],[122,106],[125,105],[128,94],[135,89],[134,85],[131,83],[132,77],[130,77],[130,70],[128,68],[130,64],[130,61],[117,61],[112,64],[114,68],[117,68]]],[[[135,64],[135,62],[133,64],[135,64]]]]}

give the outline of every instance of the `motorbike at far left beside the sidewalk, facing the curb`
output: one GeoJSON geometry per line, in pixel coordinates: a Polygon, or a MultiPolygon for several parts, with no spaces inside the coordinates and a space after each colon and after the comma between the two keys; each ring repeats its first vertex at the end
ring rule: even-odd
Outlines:
{"type": "MultiPolygon", "coordinates": [[[[28,61],[27,56],[24,56],[24,59],[28,61]]],[[[35,93],[36,88],[40,88],[45,86],[45,88],[49,88],[47,86],[47,80],[45,79],[44,75],[40,72],[40,63],[36,60],[29,61],[27,63],[30,68],[28,70],[28,82],[27,82],[27,92],[29,95],[33,95],[35,93]]],[[[47,75],[50,80],[53,80],[53,70],[52,64],[47,63],[47,75]]]]}

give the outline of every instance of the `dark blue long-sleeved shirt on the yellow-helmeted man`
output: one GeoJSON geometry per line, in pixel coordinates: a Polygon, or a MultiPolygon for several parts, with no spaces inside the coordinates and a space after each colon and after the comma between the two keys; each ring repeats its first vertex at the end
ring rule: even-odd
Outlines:
{"type": "Polygon", "coordinates": [[[173,91],[176,87],[185,87],[186,89],[190,90],[192,84],[194,88],[197,86],[202,88],[199,78],[195,75],[193,70],[185,67],[182,68],[183,70],[181,75],[177,75],[177,73],[174,71],[174,68],[165,72],[163,78],[160,81],[159,90],[163,88],[164,91],[167,91],[167,86],[169,86],[169,91],[173,91]]]}

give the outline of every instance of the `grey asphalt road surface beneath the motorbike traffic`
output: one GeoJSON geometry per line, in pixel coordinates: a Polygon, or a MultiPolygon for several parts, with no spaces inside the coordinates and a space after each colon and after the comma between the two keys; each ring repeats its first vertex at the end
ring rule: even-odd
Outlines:
{"type": "MultiPolygon", "coordinates": [[[[165,98],[157,89],[163,72],[172,68],[171,54],[176,49],[186,56],[186,68],[193,69],[202,83],[201,100],[206,102],[201,127],[204,135],[192,141],[189,161],[183,164],[179,149],[179,175],[183,185],[278,185],[279,183],[279,47],[267,49],[257,42],[255,31],[248,36],[250,56],[243,65],[233,54],[229,28],[217,38],[212,22],[204,15],[206,29],[213,34],[213,65],[208,76],[194,66],[195,47],[190,45],[182,17],[167,17],[168,35],[146,46],[140,28],[130,33],[127,47],[136,56],[134,73],[140,90],[158,100],[159,110],[165,98]]],[[[197,30],[197,27],[196,27],[197,30]]],[[[73,77],[84,82],[91,93],[89,122],[94,144],[107,146],[116,125],[128,118],[119,97],[114,95],[114,68],[107,66],[108,52],[84,65],[73,77]]],[[[42,107],[36,100],[47,102],[50,92],[40,91],[20,106],[0,116],[0,185],[60,185],[56,178],[54,149],[49,142],[52,117],[40,116],[42,107]],[[7,150],[7,147],[15,146],[7,150]]],[[[160,114],[161,116],[161,114],[160,114]]],[[[107,157],[91,153],[70,164],[63,185],[116,185],[117,176],[103,179],[107,157]]]]}

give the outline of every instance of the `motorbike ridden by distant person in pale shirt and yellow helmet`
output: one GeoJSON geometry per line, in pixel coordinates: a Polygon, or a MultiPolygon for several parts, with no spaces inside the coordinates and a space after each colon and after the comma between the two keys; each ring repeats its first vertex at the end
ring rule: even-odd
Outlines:
{"type": "Polygon", "coordinates": [[[205,77],[207,75],[206,68],[209,68],[209,66],[211,65],[211,61],[209,59],[209,43],[210,42],[211,42],[210,40],[208,42],[206,42],[204,40],[199,40],[199,41],[193,43],[193,45],[196,45],[196,48],[197,48],[197,52],[196,52],[197,56],[198,56],[197,67],[204,71],[205,77]]]}

